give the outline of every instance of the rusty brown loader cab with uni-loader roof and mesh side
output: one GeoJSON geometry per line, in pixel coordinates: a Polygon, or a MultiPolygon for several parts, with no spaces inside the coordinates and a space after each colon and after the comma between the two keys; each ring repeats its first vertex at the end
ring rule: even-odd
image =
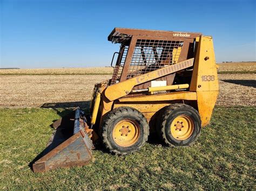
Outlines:
{"type": "Polygon", "coordinates": [[[115,28],[109,40],[121,46],[109,85],[193,58],[199,36],[201,33],[115,28]]]}

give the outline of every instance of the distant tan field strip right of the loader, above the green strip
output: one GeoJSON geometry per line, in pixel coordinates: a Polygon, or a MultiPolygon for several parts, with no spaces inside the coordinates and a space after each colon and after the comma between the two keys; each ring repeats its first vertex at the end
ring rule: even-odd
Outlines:
{"type": "Polygon", "coordinates": [[[256,62],[230,62],[218,63],[219,72],[222,71],[255,71],[256,62]]]}

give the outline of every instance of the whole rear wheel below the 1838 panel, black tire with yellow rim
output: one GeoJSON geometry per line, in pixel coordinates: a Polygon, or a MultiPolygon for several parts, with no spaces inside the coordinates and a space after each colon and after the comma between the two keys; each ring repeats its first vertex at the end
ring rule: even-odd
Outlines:
{"type": "Polygon", "coordinates": [[[189,105],[169,105],[163,108],[158,119],[158,135],[170,146],[190,146],[200,135],[198,111],[189,105]]]}

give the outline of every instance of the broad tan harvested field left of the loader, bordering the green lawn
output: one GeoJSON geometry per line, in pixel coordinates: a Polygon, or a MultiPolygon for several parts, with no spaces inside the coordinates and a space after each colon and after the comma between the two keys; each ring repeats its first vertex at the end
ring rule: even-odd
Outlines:
{"type": "MultiPolygon", "coordinates": [[[[109,78],[110,75],[0,75],[0,107],[87,101],[94,84],[109,78]]],[[[77,104],[86,103],[71,103],[71,106],[77,104]]]]}

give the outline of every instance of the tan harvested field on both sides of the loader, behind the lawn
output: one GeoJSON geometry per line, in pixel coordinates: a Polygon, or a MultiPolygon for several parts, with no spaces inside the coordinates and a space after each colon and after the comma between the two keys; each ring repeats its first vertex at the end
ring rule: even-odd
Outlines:
{"type": "MultiPolygon", "coordinates": [[[[256,105],[255,74],[219,74],[217,105],[256,105]]],[[[0,107],[84,107],[111,75],[0,75],[0,107]]]]}

